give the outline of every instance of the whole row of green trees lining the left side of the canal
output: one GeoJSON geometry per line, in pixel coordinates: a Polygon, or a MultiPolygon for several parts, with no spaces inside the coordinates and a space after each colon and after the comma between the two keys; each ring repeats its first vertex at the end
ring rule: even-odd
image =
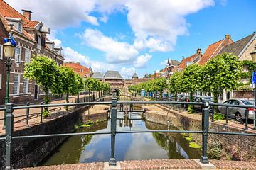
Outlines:
{"type": "MultiPolygon", "coordinates": [[[[45,104],[50,103],[49,92],[57,95],[66,95],[66,102],[69,103],[70,95],[78,95],[80,91],[110,91],[110,84],[101,82],[97,79],[83,79],[80,74],[73,72],[68,67],[58,66],[52,59],[39,55],[34,57],[30,63],[25,65],[23,77],[36,81],[45,92],[43,101],[45,104]]],[[[68,109],[68,107],[67,107],[68,109]]],[[[48,108],[44,111],[48,115],[48,108]]]]}

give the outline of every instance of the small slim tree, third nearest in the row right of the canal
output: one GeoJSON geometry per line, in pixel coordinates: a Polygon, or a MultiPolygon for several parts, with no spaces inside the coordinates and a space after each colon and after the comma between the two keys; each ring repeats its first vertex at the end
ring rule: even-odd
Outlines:
{"type": "Polygon", "coordinates": [[[181,89],[181,72],[175,72],[169,79],[169,92],[174,94],[175,101],[177,100],[178,90],[181,89]]]}

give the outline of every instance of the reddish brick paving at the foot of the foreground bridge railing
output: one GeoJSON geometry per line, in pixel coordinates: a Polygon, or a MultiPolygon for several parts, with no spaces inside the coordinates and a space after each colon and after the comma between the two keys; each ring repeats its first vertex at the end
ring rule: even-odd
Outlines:
{"type": "MultiPolygon", "coordinates": [[[[142,161],[121,161],[119,168],[122,170],[137,170],[137,169],[203,169],[195,160],[189,159],[154,159],[154,160],[142,160],[142,161]]],[[[256,162],[238,162],[238,161],[218,161],[210,160],[210,163],[216,166],[216,169],[226,170],[255,170],[256,162]]],[[[81,169],[81,170],[96,170],[96,169],[114,169],[105,166],[104,162],[87,163],[87,164],[68,164],[68,165],[53,165],[53,166],[41,166],[34,168],[26,168],[22,170],[65,170],[65,169],[81,169]]]]}

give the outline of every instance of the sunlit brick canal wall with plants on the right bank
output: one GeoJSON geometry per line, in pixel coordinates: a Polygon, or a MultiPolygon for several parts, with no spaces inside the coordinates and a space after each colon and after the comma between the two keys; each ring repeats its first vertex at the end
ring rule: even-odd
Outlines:
{"type": "MultiPolygon", "coordinates": [[[[166,115],[146,112],[146,120],[154,123],[162,123],[164,125],[166,125],[167,120],[169,120],[171,125],[181,130],[201,130],[201,120],[188,118],[187,116],[182,115],[182,113],[169,111],[169,109],[166,109],[166,115]]],[[[245,131],[229,125],[211,122],[209,130],[217,132],[254,133],[252,131],[245,131]]],[[[202,137],[200,134],[191,135],[193,140],[195,140],[199,145],[202,145],[202,137]]],[[[220,159],[224,160],[256,161],[255,143],[256,137],[240,135],[208,135],[208,157],[216,159],[215,156],[218,155],[220,156],[220,159]]]]}

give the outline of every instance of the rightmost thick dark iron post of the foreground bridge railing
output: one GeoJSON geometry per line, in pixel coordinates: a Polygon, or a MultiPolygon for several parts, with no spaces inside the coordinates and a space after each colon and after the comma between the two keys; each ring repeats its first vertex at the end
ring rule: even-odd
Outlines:
{"type": "Polygon", "coordinates": [[[208,138],[208,130],[209,130],[209,103],[204,102],[203,105],[203,113],[202,113],[202,131],[203,131],[203,150],[200,162],[202,164],[209,164],[209,160],[207,157],[207,138],[208,138]]]}

